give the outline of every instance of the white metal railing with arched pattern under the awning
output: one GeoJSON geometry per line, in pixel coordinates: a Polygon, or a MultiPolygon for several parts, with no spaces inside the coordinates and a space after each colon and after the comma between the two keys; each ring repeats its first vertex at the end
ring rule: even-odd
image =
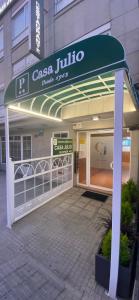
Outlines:
{"type": "Polygon", "coordinates": [[[73,155],[8,163],[11,224],[73,186],[73,155]]]}

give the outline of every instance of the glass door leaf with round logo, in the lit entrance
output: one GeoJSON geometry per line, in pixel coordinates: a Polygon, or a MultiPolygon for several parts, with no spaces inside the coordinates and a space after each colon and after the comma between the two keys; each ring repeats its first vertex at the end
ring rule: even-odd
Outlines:
{"type": "Polygon", "coordinates": [[[113,134],[90,134],[90,185],[112,189],[113,134]]]}

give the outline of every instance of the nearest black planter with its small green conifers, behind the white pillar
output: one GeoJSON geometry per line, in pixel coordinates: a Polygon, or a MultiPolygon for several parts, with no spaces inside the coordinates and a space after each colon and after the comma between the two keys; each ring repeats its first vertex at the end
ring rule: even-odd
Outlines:
{"type": "MultiPolygon", "coordinates": [[[[117,296],[131,297],[136,265],[136,243],[130,244],[126,234],[120,238],[120,265],[118,275],[117,296]]],[[[111,256],[111,230],[109,230],[95,257],[95,280],[106,290],[109,288],[111,256]]]]}

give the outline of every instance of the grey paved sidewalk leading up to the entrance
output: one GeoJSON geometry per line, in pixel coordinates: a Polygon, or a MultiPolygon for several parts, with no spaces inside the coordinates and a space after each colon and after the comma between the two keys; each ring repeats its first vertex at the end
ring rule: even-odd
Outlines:
{"type": "Polygon", "coordinates": [[[102,235],[96,224],[106,208],[111,210],[111,198],[101,203],[82,192],[65,192],[12,230],[1,225],[1,300],[108,299],[95,282],[94,264],[102,235]]]}

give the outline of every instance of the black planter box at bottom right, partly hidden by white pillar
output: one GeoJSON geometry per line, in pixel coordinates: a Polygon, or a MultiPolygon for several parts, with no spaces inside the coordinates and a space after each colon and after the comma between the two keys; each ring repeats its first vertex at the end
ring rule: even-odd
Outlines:
{"type": "MultiPolygon", "coordinates": [[[[129,267],[119,266],[117,296],[130,298],[133,291],[137,259],[137,243],[135,242],[129,267]]],[[[95,280],[106,290],[109,289],[110,260],[100,254],[95,257],[95,280]]]]}

